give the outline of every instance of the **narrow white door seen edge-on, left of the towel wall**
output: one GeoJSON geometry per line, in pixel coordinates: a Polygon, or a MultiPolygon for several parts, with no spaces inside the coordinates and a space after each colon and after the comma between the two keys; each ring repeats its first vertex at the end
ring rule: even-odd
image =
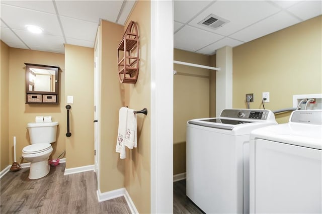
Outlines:
{"type": "Polygon", "coordinates": [[[100,189],[100,140],[101,140],[101,26],[98,27],[94,45],[94,149],[97,189],[100,189]]]}

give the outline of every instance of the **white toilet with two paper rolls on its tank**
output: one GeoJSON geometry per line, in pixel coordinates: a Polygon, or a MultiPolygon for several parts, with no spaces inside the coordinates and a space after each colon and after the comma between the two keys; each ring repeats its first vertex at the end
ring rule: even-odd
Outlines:
{"type": "Polygon", "coordinates": [[[49,173],[48,159],[56,142],[58,122],[28,123],[29,146],[22,150],[22,157],[30,162],[29,179],[38,179],[49,173]]]}

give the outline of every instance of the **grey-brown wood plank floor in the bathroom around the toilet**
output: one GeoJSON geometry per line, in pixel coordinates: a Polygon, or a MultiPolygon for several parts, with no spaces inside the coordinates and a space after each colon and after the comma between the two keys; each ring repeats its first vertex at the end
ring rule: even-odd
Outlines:
{"type": "Polygon", "coordinates": [[[1,213],[130,213],[124,197],[98,202],[93,171],[63,175],[65,164],[30,180],[29,168],[1,178],[1,213]]]}

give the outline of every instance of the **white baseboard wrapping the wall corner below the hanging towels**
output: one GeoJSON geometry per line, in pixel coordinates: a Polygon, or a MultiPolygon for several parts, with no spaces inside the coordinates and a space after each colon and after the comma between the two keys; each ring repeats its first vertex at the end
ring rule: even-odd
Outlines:
{"type": "Polygon", "coordinates": [[[122,197],[122,196],[125,197],[125,200],[131,210],[131,213],[139,213],[137,211],[135,204],[133,203],[129,193],[126,191],[125,188],[115,189],[115,190],[103,192],[103,193],[101,192],[100,189],[97,190],[97,199],[99,202],[110,200],[110,199],[117,198],[117,197],[122,197]]]}

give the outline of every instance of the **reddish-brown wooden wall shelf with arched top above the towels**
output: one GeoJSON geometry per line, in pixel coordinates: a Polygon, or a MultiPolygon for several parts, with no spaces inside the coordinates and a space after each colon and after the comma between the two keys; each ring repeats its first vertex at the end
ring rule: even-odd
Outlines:
{"type": "Polygon", "coordinates": [[[121,83],[136,83],[139,75],[139,40],[135,22],[131,21],[117,49],[118,74],[121,83]]]}

